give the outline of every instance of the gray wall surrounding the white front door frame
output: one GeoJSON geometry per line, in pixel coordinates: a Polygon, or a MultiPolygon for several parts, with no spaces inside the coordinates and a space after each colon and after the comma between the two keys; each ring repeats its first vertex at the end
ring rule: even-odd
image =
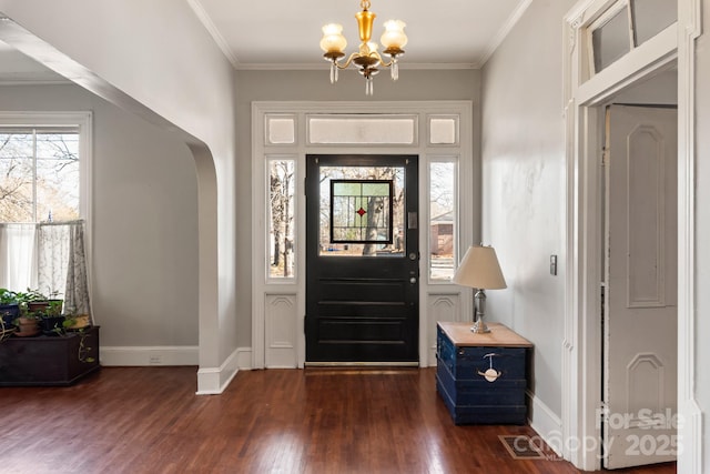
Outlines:
{"type": "MultiPolygon", "coordinates": [[[[403,61],[404,62],[404,61],[403,61]]],[[[236,202],[237,222],[251,222],[251,123],[253,101],[414,101],[414,100],[471,100],[474,123],[478,123],[480,73],[474,70],[399,70],[399,80],[393,82],[388,71],[375,78],[375,94],[365,95],[365,81],[355,70],[341,71],[339,81],[331,84],[328,67],[322,71],[239,71],[236,74],[237,163],[236,202]]],[[[474,135],[477,135],[476,133],[474,135]]],[[[478,144],[474,144],[478,147],[478,144]]],[[[236,241],[237,268],[237,334],[239,346],[251,346],[251,226],[239,225],[236,241]]]]}

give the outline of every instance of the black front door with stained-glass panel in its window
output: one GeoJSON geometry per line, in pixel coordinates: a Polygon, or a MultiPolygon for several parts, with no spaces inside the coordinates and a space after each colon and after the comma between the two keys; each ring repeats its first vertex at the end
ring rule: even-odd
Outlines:
{"type": "Polygon", "coordinates": [[[308,155],[306,363],[418,362],[416,155],[308,155]]]}

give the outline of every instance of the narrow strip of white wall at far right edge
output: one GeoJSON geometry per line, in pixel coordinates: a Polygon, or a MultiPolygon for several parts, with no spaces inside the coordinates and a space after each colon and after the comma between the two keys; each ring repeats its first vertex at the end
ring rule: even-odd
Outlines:
{"type": "MultiPolygon", "coordinates": [[[[703,2],[707,7],[707,2],[703,2]]],[[[710,8],[696,49],[696,400],[703,416],[702,472],[710,472],[710,8]]]]}

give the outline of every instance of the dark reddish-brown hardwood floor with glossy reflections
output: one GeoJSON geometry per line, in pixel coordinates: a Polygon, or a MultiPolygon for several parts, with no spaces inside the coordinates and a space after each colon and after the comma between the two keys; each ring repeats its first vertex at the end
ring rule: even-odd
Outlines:
{"type": "MultiPolygon", "coordinates": [[[[104,367],[71,387],[0,389],[1,473],[576,473],[455,426],[434,371],[240,372],[197,396],[195,367],[104,367]]],[[[617,471],[674,473],[674,464],[617,471]]]]}

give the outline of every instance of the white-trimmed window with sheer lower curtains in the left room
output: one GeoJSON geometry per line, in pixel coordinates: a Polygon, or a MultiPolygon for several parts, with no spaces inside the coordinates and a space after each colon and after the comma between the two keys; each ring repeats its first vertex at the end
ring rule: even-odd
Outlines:
{"type": "Polygon", "coordinates": [[[91,118],[0,112],[0,288],[63,294],[68,245],[81,234],[83,248],[90,214],[91,118]]]}

